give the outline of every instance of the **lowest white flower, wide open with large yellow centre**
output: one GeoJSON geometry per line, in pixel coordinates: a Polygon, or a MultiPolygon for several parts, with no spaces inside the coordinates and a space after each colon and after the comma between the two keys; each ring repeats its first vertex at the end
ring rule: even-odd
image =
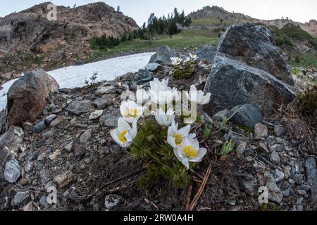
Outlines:
{"type": "Polygon", "coordinates": [[[201,162],[206,155],[206,148],[199,148],[199,142],[196,139],[185,139],[178,148],[174,148],[174,154],[189,169],[189,162],[201,162]]]}

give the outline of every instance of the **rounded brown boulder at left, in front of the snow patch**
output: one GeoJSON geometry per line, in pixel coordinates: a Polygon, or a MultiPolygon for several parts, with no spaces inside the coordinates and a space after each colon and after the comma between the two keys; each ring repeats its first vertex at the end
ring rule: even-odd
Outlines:
{"type": "Polygon", "coordinates": [[[20,77],[8,90],[7,127],[36,120],[44,110],[46,98],[56,89],[56,80],[42,69],[20,77]]]}

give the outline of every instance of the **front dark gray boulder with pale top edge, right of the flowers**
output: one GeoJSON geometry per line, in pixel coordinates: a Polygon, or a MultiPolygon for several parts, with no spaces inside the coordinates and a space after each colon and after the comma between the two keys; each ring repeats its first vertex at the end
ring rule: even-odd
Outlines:
{"type": "Polygon", "coordinates": [[[211,93],[211,103],[205,106],[209,115],[236,105],[254,103],[264,116],[272,115],[274,103],[287,103],[295,98],[285,82],[273,75],[251,68],[240,60],[216,56],[205,92],[211,93]]]}

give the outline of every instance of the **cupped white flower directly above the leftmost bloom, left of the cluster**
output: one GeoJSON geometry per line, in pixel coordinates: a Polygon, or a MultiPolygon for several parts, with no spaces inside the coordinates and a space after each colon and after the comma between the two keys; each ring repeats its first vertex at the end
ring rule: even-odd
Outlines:
{"type": "Polygon", "coordinates": [[[134,101],[123,101],[120,105],[120,113],[128,123],[132,124],[132,122],[142,117],[143,108],[134,101]]]}

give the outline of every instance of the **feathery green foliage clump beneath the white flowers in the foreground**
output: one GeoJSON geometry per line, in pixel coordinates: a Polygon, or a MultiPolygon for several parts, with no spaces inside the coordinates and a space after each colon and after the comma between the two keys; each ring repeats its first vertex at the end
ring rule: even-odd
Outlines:
{"type": "MultiPolygon", "coordinates": [[[[173,181],[175,188],[185,188],[190,180],[188,171],[175,158],[173,148],[166,143],[166,134],[166,128],[154,120],[146,120],[142,129],[139,129],[130,153],[136,160],[148,156],[152,160],[147,167],[148,174],[139,183],[146,186],[167,179],[173,181]]],[[[193,167],[192,164],[190,166],[193,167]]]]}

